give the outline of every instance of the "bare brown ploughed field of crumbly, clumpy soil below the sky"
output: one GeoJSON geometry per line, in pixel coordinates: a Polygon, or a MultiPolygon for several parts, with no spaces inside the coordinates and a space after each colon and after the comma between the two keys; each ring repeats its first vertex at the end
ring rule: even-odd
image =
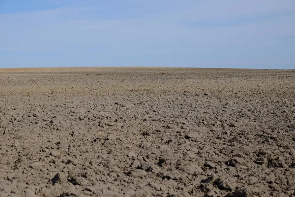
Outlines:
{"type": "Polygon", "coordinates": [[[16,196],[295,196],[295,70],[0,69],[16,196]]]}

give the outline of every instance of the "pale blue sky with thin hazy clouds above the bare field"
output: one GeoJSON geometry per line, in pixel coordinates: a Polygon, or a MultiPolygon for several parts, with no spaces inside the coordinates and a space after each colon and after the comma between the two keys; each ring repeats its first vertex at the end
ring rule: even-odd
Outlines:
{"type": "Polygon", "coordinates": [[[294,0],[0,0],[0,67],[295,69],[294,0]]]}

